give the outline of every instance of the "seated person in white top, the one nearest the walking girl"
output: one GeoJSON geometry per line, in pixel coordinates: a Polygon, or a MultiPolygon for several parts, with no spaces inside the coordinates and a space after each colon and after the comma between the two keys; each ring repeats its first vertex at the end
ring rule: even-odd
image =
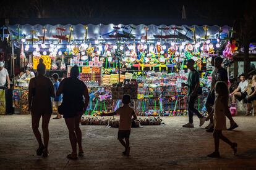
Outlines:
{"type": "Polygon", "coordinates": [[[241,82],[238,87],[230,94],[232,96],[232,103],[236,103],[236,100],[243,100],[247,97],[248,81],[245,79],[245,75],[239,76],[241,82]]]}

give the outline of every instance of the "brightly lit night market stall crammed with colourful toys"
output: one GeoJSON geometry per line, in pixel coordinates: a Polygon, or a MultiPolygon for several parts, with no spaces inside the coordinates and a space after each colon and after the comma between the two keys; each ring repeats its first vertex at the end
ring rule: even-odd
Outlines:
{"type": "MultiPolygon", "coordinates": [[[[36,72],[40,58],[47,76],[69,76],[79,66],[81,79],[90,92],[85,115],[115,111],[123,94],[130,94],[140,116],[183,116],[186,110],[186,60],[194,59],[203,92],[197,108],[204,103],[211,81],[212,57],[233,60],[237,53],[233,29],[229,26],[187,25],[5,25],[20,67],[36,72]]],[[[14,68],[13,68],[14,69],[14,68]]],[[[14,107],[27,113],[30,78],[17,79],[14,107]]],[[[56,110],[56,108],[54,108],[56,110]]]]}

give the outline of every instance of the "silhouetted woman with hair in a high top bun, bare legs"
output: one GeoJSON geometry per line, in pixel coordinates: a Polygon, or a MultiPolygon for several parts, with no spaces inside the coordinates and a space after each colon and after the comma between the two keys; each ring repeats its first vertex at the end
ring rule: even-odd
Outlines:
{"type": "Polygon", "coordinates": [[[51,97],[55,97],[54,87],[51,80],[45,76],[45,64],[43,59],[37,66],[38,75],[35,78],[30,79],[28,87],[28,110],[32,113],[32,129],[35,134],[36,140],[38,142],[38,149],[36,150],[37,155],[42,155],[47,157],[48,153],[48,143],[49,143],[49,119],[51,118],[51,113],[53,112],[53,107],[51,105],[51,97]],[[43,118],[42,129],[43,129],[43,140],[41,139],[41,133],[38,129],[40,118],[43,118]]]}

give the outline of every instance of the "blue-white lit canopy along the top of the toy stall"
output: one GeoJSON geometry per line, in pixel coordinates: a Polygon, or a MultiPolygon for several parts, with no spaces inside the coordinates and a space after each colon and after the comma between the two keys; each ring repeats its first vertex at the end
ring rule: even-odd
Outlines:
{"type": "MultiPolygon", "coordinates": [[[[197,26],[197,25],[114,25],[114,24],[98,24],[92,25],[88,24],[87,26],[78,24],[78,25],[6,25],[6,28],[12,33],[14,39],[27,39],[27,41],[32,40],[34,38],[34,42],[41,41],[43,38],[46,42],[58,42],[58,36],[64,36],[66,39],[63,39],[62,44],[70,42],[79,42],[84,41],[87,38],[87,41],[95,41],[98,40],[100,42],[115,40],[113,36],[116,33],[121,34],[129,34],[130,38],[123,38],[127,41],[134,41],[143,39],[143,36],[146,35],[146,29],[148,28],[147,36],[148,41],[163,39],[164,41],[186,41],[193,42],[194,38],[200,40],[205,39],[207,35],[207,39],[211,39],[214,43],[218,38],[218,34],[220,33],[220,38],[224,39],[228,36],[229,30],[231,30],[230,26],[207,26],[207,31],[205,30],[205,25],[197,26]],[[119,30],[114,29],[116,27],[119,30]],[[64,31],[58,30],[58,28],[64,28],[64,31]],[[167,28],[168,30],[163,30],[161,28],[167,28]],[[195,31],[191,30],[191,28],[195,28],[195,31]],[[88,29],[88,33],[86,35],[88,29]],[[32,31],[33,30],[33,31],[32,31]],[[72,30],[72,31],[71,31],[72,30]],[[71,33],[72,32],[72,33],[71,33]],[[112,37],[111,37],[112,35],[112,37]],[[166,36],[167,35],[167,36],[166,36]],[[166,38],[161,38],[161,36],[166,36],[166,38]]],[[[46,43],[47,44],[47,43],[46,43]]]]}

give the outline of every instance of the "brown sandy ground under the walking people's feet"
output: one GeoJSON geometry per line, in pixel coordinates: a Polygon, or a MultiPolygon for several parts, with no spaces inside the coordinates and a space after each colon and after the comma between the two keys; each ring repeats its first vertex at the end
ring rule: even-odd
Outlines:
{"type": "MultiPolygon", "coordinates": [[[[182,128],[187,117],[163,118],[165,125],[132,129],[130,156],[122,156],[117,129],[105,126],[80,126],[85,155],[68,160],[70,144],[64,119],[49,123],[49,157],[36,156],[38,147],[30,115],[0,116],[0,169],[256,169],[256,116],[237,116],[236,131],[225,131],[238,144],[234,156],[220,142],[222,158],[208,158],[213,152],[213,137],[205,125],[182,128]]],[[[229,123],[227,123],[229,126],[229,123]]]]}

